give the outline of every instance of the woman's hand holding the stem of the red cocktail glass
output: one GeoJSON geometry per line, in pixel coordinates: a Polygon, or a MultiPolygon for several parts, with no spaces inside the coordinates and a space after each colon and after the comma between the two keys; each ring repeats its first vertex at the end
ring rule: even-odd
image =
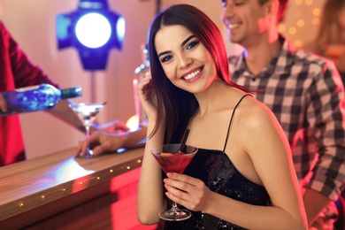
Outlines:
{"type": "Polygon", "coordinates": [[[191,211],[207,209],[212,192],[202,180],[179,173],[167,173],[167,176],[164,180],[167,190],[165,195],[169,199],[191,211]]]}

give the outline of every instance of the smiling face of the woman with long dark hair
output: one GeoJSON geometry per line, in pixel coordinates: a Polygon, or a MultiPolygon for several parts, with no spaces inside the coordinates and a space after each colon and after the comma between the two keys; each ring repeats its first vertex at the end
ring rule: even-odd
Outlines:
{"type": "Polygon", "coordinates": [[[160,64],[176,87],[199,93],[216,78],[210,51],[186,27],[162,27],[154,42],[160,64]]]}

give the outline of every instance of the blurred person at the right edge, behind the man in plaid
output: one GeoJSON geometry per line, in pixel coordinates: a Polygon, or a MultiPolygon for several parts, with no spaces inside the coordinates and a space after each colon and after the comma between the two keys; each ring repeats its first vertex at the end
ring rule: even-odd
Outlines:
{"type": "Polygon", "coordinates": [[[345,83],[345,0],[326,0],[318,33],[305,49],[334,61],[345,83]]]}

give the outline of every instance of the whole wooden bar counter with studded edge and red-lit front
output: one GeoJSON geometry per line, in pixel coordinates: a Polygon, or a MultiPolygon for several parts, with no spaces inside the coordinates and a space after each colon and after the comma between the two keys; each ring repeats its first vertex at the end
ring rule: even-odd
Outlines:
{"type": "MultiPolygon", "coordinates": [[[[73,153],[66,149],[0,167],[0,229],[115,228],[112,204],[135,195],[143,149],[91,159],[73,153]],[[90,226],[100,217],[104,227],[90,226]]],[[[133,199],[129,203],[135,206],[133,199]]]]}

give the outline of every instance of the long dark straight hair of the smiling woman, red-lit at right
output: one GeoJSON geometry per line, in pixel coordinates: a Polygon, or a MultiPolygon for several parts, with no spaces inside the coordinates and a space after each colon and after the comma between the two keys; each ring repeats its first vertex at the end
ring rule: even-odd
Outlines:
{"type": "Polygon", "coordinates": [[[149,137],[157,132],[157,127],[161,126],[162,121],[165,120],[165,143],[181,141],[189,119],[199,107],[193,94],[177,88],[166,77],[157,57],[154,43],[157,32],[161,27],[173,25],[188,28],[211,52],[221,80],[228,85],[247,90],[247,88],[238,86],[230,80],[223,36],[219,28],[205,13],[188,4],[176,4],[170,6],[164,12],[158,13],[151,23],[148,37],[150,70],[157,96],[157,123],[149,137]]]}

